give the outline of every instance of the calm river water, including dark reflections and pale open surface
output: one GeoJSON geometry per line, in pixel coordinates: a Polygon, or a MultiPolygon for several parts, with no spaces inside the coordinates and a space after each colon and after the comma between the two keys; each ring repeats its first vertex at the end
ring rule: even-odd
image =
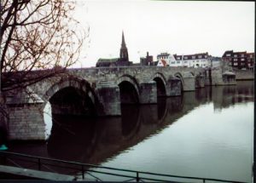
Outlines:
{"type": "Polygon", "coordinates": [[[53,115],[47,143],[12,143],[9,151],[252,182],[253,101],[253,82],[239,82],[160,98],[157,105],[122,106],[122,117],[53,115]]]}

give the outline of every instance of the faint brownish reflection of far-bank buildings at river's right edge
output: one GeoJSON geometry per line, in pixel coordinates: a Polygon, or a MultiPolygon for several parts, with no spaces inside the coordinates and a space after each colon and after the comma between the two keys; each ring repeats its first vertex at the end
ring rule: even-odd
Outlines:
{"type": "Polygon", "coordinates": [[[237,82],[237,85],[212,87],[212,101],[214,111],[254,100],[253,82],[237,82]]]}

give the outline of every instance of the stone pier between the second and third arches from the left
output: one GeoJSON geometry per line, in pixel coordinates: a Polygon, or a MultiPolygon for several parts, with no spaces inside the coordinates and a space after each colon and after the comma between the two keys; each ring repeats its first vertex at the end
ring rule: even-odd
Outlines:
{"type": "Polygon", "coordinates": [[[141,104],[157,103],[157,86],[154,81],[140,83],[139,101],[141,104]]]}

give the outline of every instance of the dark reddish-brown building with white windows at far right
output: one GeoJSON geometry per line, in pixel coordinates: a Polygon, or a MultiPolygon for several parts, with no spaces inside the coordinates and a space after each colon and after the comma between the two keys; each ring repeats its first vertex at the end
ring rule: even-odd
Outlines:
{"type": "Polygon", "coordinates": [[[225,51],[222,60],[229,62],[229,65],[235,69],[251,70],[254,66],[254,53],[225,51]]]}

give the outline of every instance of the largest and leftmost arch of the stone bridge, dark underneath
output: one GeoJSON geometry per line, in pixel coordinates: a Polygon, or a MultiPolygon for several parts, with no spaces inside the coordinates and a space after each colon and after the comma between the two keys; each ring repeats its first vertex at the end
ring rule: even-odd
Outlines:
{"type": "Polygon", "coordinates": [[[51,111],[59,114],[96,115],[96,94],[90,83],[78,77],[66,77],[54,83],[44,94],[51,111]]]}

